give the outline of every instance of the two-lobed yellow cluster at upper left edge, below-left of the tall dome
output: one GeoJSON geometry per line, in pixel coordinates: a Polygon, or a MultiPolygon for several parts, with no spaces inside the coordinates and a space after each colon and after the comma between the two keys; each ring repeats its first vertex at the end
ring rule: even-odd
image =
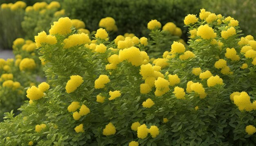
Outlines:
{"type": "Polygon", "coordinates": [[[42,31],[35,36],[35,42],[36,42],[36,47],[40,47],[42,46],[42,43],[56,44],[57,40],[55,36],[47,35],[45,31],[42,31]]]}

